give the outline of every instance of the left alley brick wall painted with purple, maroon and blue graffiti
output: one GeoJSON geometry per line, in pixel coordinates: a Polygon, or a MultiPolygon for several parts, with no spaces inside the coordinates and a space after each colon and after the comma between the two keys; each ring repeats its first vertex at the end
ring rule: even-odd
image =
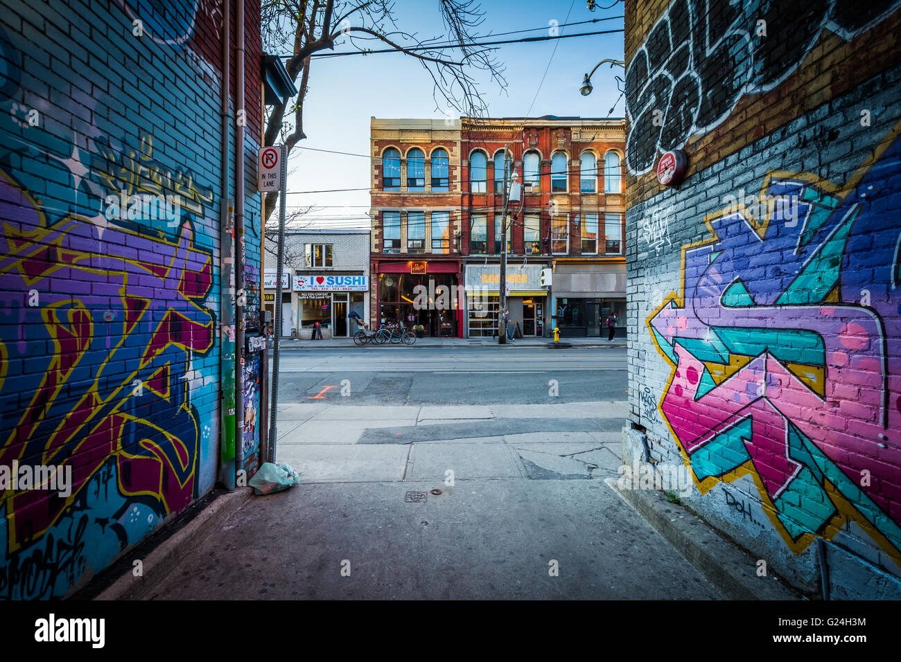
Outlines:
{"type": "MultiPolygon", "coordinates": [[[[0,0],[0,478],[13,462],[72,476],[67,495],[0,488],[2,598],[70,593],[214,484],[221,5],[0,0]],[[168,215],[132,195],[161,196],[168,215]]],[[[259,2],[246,5],[252,296],[259,2]]]]}

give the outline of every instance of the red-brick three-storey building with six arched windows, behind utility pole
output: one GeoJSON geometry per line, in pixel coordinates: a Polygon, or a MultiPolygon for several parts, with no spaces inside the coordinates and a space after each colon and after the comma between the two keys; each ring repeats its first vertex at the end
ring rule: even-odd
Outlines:
{"type": "Polygon", "coordinates": [[[624,322],[623,120],[461,122],[463,271],[473,294],[479,285],[490,287],[469,296],[469,336],[496,332],[505,250],[506,304],[523,336],[550,336],[555,327],[564,337],[599,336],[607,316],[616,313],[624,322]],[[508,207],[506,247],[505,145],[508,171],[523,184],[520,204],[508,207]],[[542,269],[551,269],[551,286],[542,286],[542,269]]]}

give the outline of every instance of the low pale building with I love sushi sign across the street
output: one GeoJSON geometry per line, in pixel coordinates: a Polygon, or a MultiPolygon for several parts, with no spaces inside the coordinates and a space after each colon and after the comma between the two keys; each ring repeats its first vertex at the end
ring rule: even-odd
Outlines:
{"type": "MultiPolygon", "coordinates": [[[[278,246],[267,240],[268,264],[276,265],[278,246]]],[[[368,320],[369,230],[285,232],[282,270],[284,337],[310,339],[319,322],[324,338],[349,338],[358,330],[351,312],[368,320]]],[[[264,306],[274,319],[278,268],[267,269],[264,306]]]]}

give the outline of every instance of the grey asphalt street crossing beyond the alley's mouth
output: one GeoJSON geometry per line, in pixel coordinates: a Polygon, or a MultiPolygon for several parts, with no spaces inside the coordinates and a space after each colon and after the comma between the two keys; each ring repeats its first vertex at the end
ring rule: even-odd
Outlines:
{"type": "Polygon", "coordinates": [[[283,349],[279,366],[280,404],[623,401],[628,388],[625,349],[283,349]]]}

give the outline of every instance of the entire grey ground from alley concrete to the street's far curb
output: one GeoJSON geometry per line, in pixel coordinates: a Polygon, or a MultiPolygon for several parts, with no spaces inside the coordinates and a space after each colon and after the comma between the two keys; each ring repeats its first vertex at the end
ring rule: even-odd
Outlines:
{"type": "Polygon", "coordinates": [[[278,460],[301,485],[251,496],[144,597],[721,597],[604,482],[622,464],[623,351],[393,351],[287,356],[278,460]],[[452,402],[484,404],[423,396],[450,372],[452,402]],[[351,395],[323,393],[345,378],[351,395]]]}

